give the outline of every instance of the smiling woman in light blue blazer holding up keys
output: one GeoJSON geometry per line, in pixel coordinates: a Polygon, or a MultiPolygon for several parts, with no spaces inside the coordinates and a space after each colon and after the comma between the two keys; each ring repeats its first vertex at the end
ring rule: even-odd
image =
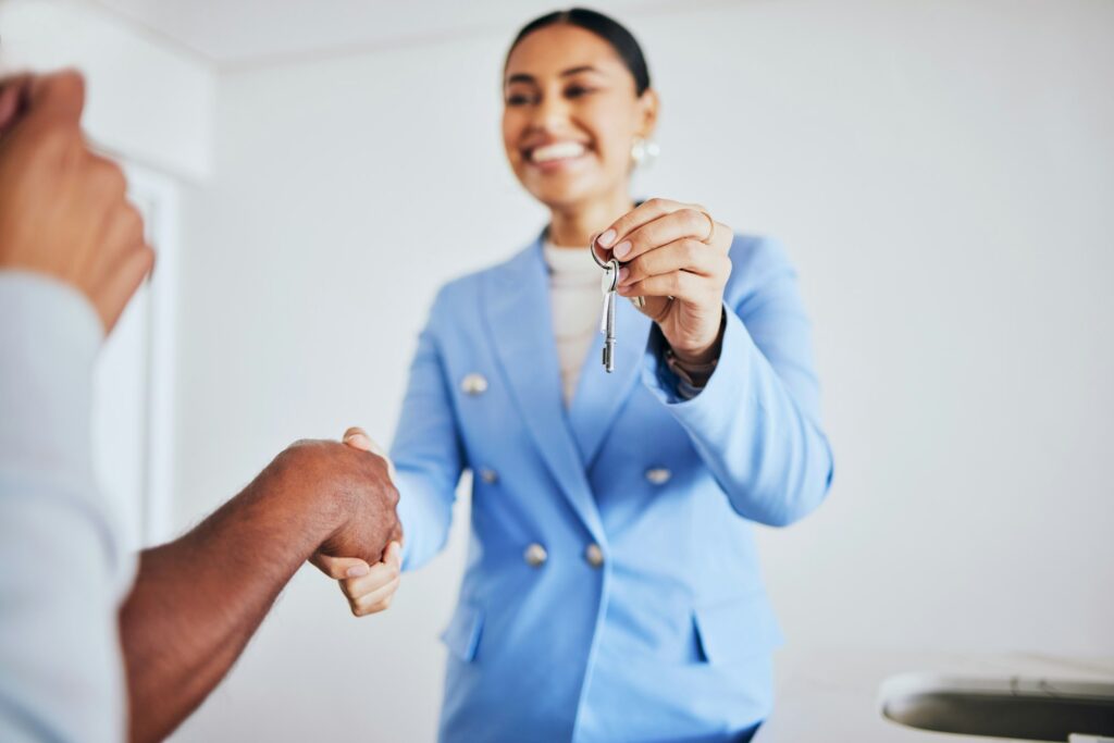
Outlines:
{"type": "MultiPolygon", "coordinates": [[[[794,273],[700,206],[632,199],[658,99],[616,21],[529,23],[504,94],[507,159],[549,224],[442,289],[392,450],[404,569],[477,473],[441,739],[746,740],[780,642],[752,524],[810,512],[832,467],[794,273]],[[643,300],[616,312],[614,374],[589,244],[643,300]]],[[[359,613],[397,586],[342,584],[359,613]]]]}

